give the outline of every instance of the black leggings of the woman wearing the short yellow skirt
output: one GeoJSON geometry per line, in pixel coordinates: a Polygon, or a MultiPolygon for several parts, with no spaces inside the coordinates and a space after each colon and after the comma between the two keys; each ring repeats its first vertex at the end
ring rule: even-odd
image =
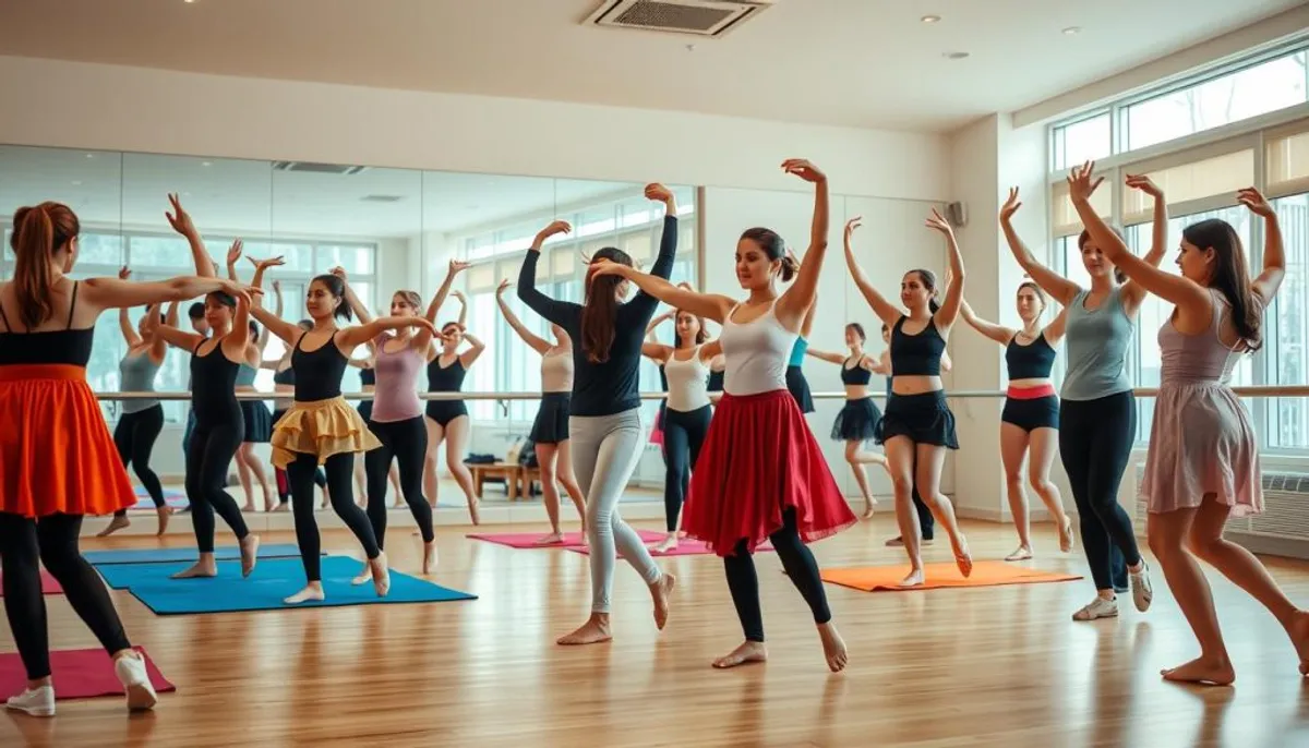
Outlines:
{"type": "MultiPolygon", "coordinates": [[[[355,452],[340,452],[327,458],[327,494],[336,517],[346,522],[350,531],[364,545],[369,560],[381,554],[373,526],[368,523],[364,510],[355,506],[355,489],[351,479],[355,476],[355,452]]],[[[310,582],[322,581],[322,539],[318,536],[318,520],[314,519],[314,471],[318,468],[318,455],[297,454],[295,462],[287,466],[287,479],[291,481],[291,511],[296,518],[296,543],[300,544],[300,560],[305,565],[305,577],[310,582]]]]}

